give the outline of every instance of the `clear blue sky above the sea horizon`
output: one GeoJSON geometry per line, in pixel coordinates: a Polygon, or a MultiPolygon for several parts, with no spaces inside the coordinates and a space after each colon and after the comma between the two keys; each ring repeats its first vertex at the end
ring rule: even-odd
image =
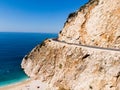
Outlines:
{"type": "Polygon", "coordinates": [[[88,0],[0,0],[0,32],[57,33],[88,0]]]}

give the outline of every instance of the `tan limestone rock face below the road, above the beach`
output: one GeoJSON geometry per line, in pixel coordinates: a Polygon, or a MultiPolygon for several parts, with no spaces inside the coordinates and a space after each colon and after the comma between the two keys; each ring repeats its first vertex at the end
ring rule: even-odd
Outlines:
{"type": "Polygon", "coordinates": [[[22,68],[50,90],[120,90],[120,51],[47,40],[23,59],[22,68]]]}

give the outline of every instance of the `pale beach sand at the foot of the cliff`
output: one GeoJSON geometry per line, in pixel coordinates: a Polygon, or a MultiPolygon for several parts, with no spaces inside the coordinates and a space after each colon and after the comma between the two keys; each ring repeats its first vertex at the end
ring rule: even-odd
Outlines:
{"type": "Polygon", "coordinates": [[[48,84],[40,80],[26,80],[10,86],[0,87],[0,90],[51,90],[48,84]]]}

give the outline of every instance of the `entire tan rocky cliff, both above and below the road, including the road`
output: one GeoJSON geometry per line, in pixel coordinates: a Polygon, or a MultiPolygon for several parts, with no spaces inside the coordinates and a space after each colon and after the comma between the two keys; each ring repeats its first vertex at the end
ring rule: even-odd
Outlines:
{"type": "Polygon", "coordinates": [[[49,90],[120,90],[119,11],[120,0],[91,0],[69,15],[58,39],[24,57],[25,73],[49,90]]]}

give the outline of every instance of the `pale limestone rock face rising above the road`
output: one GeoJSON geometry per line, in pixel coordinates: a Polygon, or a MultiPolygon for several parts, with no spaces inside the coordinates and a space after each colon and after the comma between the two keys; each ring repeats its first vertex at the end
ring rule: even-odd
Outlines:
{"type": "Polygon", "coordinates": [[[120,48],[120,0],[91,0],[69,15],[59,40],[120,48]]]}

